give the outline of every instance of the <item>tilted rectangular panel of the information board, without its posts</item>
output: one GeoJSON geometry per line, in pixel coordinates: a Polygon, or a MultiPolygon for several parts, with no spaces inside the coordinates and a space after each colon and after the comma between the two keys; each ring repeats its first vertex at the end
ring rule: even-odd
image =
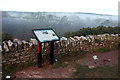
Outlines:
{"type": "Polygon", "coordinates": [[[53,29],[34,29],[33,33],[40,42],[57,41],[59,37],[53,29]]]}

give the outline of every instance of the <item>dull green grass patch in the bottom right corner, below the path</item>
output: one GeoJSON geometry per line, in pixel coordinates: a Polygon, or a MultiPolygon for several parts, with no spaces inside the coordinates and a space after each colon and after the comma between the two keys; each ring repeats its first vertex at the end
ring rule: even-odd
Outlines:
{"type": "Polygon", "coordinates": [[[118,65],[114,67],[103,66],[89,69],[88,66],[77,64],[73,78],[118,78],[118,65]]]}

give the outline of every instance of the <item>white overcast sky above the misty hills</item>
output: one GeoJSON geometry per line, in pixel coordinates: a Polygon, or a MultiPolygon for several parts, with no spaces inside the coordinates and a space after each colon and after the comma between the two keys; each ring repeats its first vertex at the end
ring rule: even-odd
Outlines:
{"type": "Polygon", "coordinates": [[[118,15],[118,2],[119,0],[0,0],[0,10],[118,15]]]}

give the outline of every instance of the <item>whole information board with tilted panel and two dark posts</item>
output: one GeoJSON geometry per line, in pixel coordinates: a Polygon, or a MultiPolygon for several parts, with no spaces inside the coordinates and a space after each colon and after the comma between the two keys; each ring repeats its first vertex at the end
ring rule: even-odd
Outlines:
{"type": "Polygon", "coordinates": [[[59,41],[60,37],[52,28],[46,29],[32,29],[33,34],[38,41],[38,66],[42,67],[42,49],[45,49],[45,43],[50,42],[50,64],[54,64],[54,41],[59,41]],[[44,43],[44,48],[42,48],[44,43]]]}

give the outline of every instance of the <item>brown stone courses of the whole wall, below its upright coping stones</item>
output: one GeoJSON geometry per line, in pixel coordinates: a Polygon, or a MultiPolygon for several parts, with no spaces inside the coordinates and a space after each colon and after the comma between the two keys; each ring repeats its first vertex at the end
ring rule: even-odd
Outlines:
{"type": "MultiPolygon", "coordinates": [[[[76,45],[60,45],[60,43],[55,43],[55,55],[58,54],[64,54],[67,52],[72,52],[72,51],[80,51],[80,50],[84,50],[84,51],[88,51],[90,53],[93,53],[94,50],[97,50],[99,48],[110,48],[110,49],[114,49],[115,47],[118,46],[118,44],[120,43],[120,38],[116,38],[116,39],[111,39],[111,40],[104,40],[101,41],[100,43],[97,42],[83,42],[82,45],[81,44],[76,44],[76,45]]],[[[43,54],[42,56],[45,58],[45,55],[49,55],[49,45],[45,45],[43,48],[43,54]]],[[[29,48],[26,49],[24,51],[22,50],[15,50],[9,53],[4,53],[2,56],[2,63],[3,65],[12,65],[12,64],[26,64],[29,62],[37,62],[37,46],[35,46],[34,48],[29,48]]],[[[49,56],[47,56],[47,60],[49,56]]]]}

